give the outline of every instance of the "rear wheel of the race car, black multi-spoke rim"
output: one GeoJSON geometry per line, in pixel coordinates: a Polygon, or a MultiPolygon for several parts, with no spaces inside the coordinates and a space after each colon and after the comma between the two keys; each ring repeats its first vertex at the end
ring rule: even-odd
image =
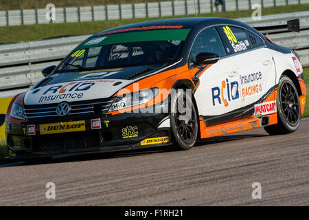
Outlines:
{"type": "Polygon", "coordinates": [[[297,89],[288,76],[282,76],[277,89],[278,123],[264,127],[270,135],[291,133],[298,129],[301,109],[297,89]]]}

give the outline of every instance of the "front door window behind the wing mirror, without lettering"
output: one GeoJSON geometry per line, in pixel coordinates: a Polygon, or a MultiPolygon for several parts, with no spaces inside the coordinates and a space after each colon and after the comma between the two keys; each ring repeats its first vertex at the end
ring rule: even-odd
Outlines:
{"type": "Polygon", "coordinates": [[[196,36],[192,45],[190,63],[194,62],[196,55],[201,52],[211,52],[219,56],[226,55],[225,48],[216,28],[208,28],[196,36]]]}

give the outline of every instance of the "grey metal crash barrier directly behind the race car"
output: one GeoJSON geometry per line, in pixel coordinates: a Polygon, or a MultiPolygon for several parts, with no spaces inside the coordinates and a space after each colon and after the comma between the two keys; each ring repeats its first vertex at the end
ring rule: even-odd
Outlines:
{"type": "MultiPolygon", "coordinates": [[[[251,25],[275,25],[286,23],[288,19],[300,18],[301,27],[308,27],[309,11],[276,14],[262,17],[253,22],[251,18],[238,19],[251,25]],[[276,18],[280,18],[277,19],[276,18]]],[[[57,65],[74,47],[90,35],[71,36],[25,43],[0,45],[0,98],[13,96],[43,78],[41,70],[49,65],[57,65]]],[[[269,33],[268,37],[296,50],[301,64],[309,66],[309,29],[300,33],[269,33]]]]}

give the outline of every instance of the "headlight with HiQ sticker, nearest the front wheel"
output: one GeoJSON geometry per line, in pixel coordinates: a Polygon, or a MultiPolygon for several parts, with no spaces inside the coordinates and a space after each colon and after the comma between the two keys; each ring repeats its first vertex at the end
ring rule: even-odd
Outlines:
{"type": "Polygon", "coordinates": [[[159,89],[156,87],[152,89],[143,89],[141,91],[136,91],[131,94],[124,94],[123,96],[118,96],[113,102],[113,104],[111,104],[111,108],[109,109],[109,111],[116,111],[139,104],[144,104],[155,98],[158,93],[159,89]]]}

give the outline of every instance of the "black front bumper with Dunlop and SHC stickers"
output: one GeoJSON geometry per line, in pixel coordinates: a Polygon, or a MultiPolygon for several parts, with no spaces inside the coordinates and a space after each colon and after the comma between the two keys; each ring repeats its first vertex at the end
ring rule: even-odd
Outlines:
{"type": "Polygon", "coordinates": [[[170,128],[158,128],[168,118],[169,113],[121,113],[22,123],[6,120],[8,155],[9,158],[23,159],[168,146],[172,144],[170,128]],[[96,120],[95,127],[91,126],[91,120],[96,120]],[[52,131],[52,127],[59,129],[61,122],[84,124],[83,131],[52,131]],[[51,124],[51,131],[44,134],[51,124]]]}

